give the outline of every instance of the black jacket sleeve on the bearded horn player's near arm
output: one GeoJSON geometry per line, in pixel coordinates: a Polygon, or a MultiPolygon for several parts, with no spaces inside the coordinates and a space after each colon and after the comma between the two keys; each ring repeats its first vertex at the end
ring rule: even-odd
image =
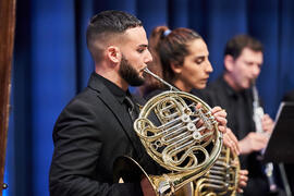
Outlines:
{"type": "Polygon", "coordinates": [[[101,130],[93,107],[68,106],[53,131],[54,151],[49,174],[50,196],[140,195],[139,184],[97,180],[101,130]]]}

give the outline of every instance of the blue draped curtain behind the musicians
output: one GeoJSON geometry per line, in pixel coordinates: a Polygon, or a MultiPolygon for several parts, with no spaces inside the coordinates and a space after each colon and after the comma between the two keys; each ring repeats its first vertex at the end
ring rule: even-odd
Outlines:
{"type": "Polygon", "coordinates": [[[198,32],[210,51],[210,79],[223,70],[229,38],[249,34],[260,39],[265,63],[257,85],[272,118],[283,94],[294,88],[292,0],[20,0],[5,168],[9,188],[3,195],[49,195],[52,127],[94,70],[85,44],[87,22],[109,9],[137,15],[147,34],[157,25],[198,32]]]}

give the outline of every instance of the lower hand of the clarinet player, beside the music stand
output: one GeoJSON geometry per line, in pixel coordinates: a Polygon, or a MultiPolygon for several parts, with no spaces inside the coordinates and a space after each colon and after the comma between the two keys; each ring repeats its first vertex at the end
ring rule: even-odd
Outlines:
{"type": "Polygon", "coordinates": [[[250,132],[246,137],[238,142],[240,152],[246,155],[253,151],[259,151],[267,146],[268,140],[268,134],[250,132]]]}

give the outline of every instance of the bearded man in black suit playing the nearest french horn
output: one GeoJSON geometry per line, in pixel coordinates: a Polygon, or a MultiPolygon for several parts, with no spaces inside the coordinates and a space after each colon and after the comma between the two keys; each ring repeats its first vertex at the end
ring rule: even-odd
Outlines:
{"type": "MultiPolygon", "coordinates": [[[[70,101],[56,122],[54,152],[49,176],[50,195],[159,195],[158,189],[147,181],[148,177],[133,176],[136,169],[133,170],[134,173],[119,171],[124,183],[113,182],[113,170],[118,170],[113,164],[119,157],[128,157],[136,161],[148,174],[166,176],[162,172],[169,172],[151,159],[133,127],[133,114],[136,113],[137,105],[134,103],[136,101],[130,94],[128,86],[144,83],[144,70],[152,60],[142,22],[122,11],[101,12],[91,17],[88,24],[87,47],[95,62],[95,72],[88,86],[70,101]],[[132,181],[132,177],[137,181],[132,181]]],[[[174,99],[182,100],[179,96],[174,99]]],[[[183,109],[181,111],[189,114],[181,118],[181,122],[185,124],[184,130],[191,130],[196,143],[213,142],[220,147],[221,132],[225,133],[226,130],[225,111],[219,107],[211,111],[201,111],[201,106],[186,106],[183,101],[179,105],[183,109]],[[196,113],[203,118],[199,120],[196,113]],[[207,113],[209,118],[206,117],[207,113]],[[197,130],[199,124],[209,126],[206,121],[210,120],[217,122],[213,131],[210,131],[212,134],[197,130]],[[194,121],[199,124],[195,125],[194,121]]],[[[177,108],[175,110],[180,111],[177,108]]],[[[144,125],[145,122],[138,123],[138,127],[144,125]]],[[[212,144],[210,148],[216,146],[212,144]]],[[[204,148],[201,151],[205,151],[204,148]]],[[[219,148],[212,151],[215,159],[219,152],[219,148]]],[[[206,157],[203,156],[204,160],[206,157]]],[[[163,161],[180,161],[175,159],[168,156],[163,161]]],[[[203,173],[212,162],[210,160],[201,169],[203,173]]],[[[184,161],[183,164],[195,166],[197,161],[184,161]]],[[[200,176],[200,173],[197,174],[200,176]]],[[[170,184],[170,194],[173,194],[173,187],[170,184]]]]}

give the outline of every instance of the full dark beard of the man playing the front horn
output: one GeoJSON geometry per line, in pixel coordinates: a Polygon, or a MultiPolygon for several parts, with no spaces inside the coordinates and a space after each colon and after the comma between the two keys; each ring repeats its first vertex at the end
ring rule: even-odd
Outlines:
{"type": "Polygon", "coordinates": [[[121,66],[119,74],[131,86],[140,86],[144,84],[145,78],[139,76],[139,73],[128,63],[127,59],[122,54],[121,66]]]}

